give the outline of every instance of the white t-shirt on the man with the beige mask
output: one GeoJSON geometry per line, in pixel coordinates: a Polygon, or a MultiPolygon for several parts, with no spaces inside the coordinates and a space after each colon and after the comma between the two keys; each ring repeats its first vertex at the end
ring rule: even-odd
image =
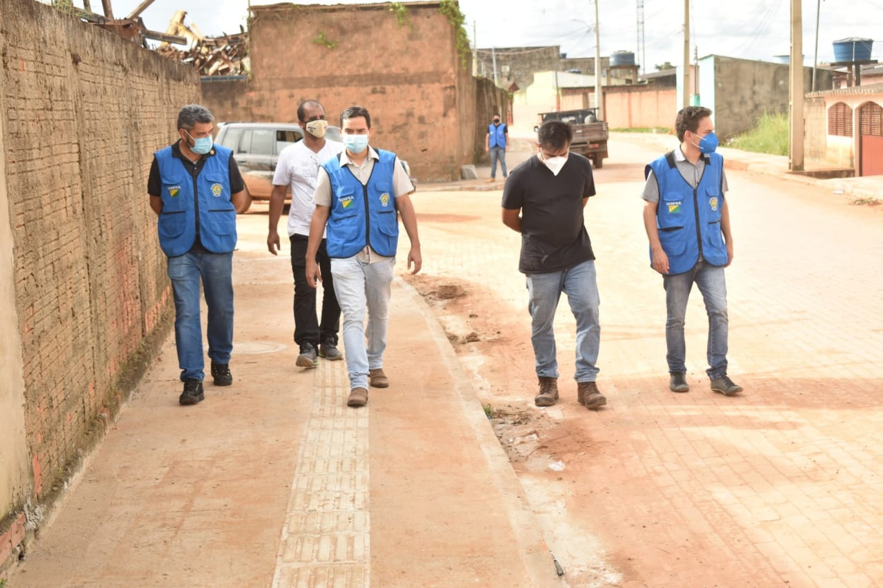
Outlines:
{"type": "MultiPolygon", "coordinates": [[[[325,139],[325,145],[316,153],[303,140],[289,145],[279,154],[273,185],[291,185],[291,208],[288,211],[288,236],[310,234],[313,220],[313,193],[322,163],[343,151],[343,143],[325,139]]],[[[322,235],[324,238],[325,235],[322,235]]]]}

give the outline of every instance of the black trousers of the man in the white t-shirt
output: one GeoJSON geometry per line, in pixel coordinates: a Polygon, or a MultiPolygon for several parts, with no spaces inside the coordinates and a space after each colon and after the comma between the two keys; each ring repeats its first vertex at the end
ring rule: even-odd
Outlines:
{"type": "Polygon", "coordinates": [[[323,341],[337,344],[340,330],[340,305],[334,293],[331,260],[325,248],[325,239],[319,245],[316,261],[322,276],[322,320],[316,319],[316,289],[306,283],[306,235],[291,235],[291,273],[294,275],[294,342],[303,346],[310,343],[318,349],[323,341]]]}

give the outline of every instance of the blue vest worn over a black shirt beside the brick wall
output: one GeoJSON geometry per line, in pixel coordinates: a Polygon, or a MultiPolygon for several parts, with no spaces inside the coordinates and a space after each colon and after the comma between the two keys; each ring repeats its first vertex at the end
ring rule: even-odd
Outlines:
{"type": "Polygon", "coordinates": [[[169,257],[184,255],[196,242],[212,253],[236,247],[236,208],[230,202],[230,149],[215,145],[200,175],[193,177],[171,147],[155,153],[162,182],[162,212],[157,222],[160,246],[169,257]]]}

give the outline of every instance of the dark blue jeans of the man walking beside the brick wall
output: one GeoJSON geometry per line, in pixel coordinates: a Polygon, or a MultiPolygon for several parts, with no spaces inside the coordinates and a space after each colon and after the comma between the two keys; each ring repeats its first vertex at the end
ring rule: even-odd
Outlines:
{"type": "Polygon", "coordinates": [[[175,344],[181,381],[204,380],[200,278],[208,305],[208,357],[229,364],[233,351],[233,253],[185,253],[169,258],[175,297],[175,344]]]}

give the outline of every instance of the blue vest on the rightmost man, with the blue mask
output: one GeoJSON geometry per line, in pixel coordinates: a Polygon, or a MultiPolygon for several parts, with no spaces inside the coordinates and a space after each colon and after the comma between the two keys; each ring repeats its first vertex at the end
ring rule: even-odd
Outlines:
{"type": "Polygon", "coordinates": [[[656,226],[662,250],[668,255],[668,275],[690,271],[700,256],[713,266],[727,265],[727,246],[721,233],[723,157],[716,153],[703,156],[706,166],[695,189],[677,170],[674,152],[644,169],[644,177],[653,170],[659,185],[656,226]]]}

